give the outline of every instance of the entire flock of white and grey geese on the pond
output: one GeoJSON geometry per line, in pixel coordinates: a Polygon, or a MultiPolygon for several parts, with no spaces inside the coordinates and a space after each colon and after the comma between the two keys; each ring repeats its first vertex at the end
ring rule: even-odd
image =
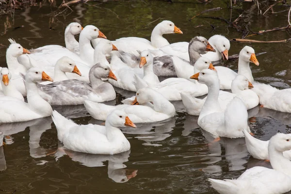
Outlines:
{"type": "Polygon", "coordinates": [[[254,81],[250,62],[259,62],[249,46],[240,51],[236,73],[212,65],[212,61],[228,60],[226,37],[196,36],[189,43],[170,44],[162,36],[170,33],[183,32],[165,20],[153,29],[151,41],[138,37],[109,41],[97,27],[82,28],[73,22],[65,29],[65,47],[28,50],[9,39],[8,68],[0,69],[0,123],[52,116],[65,148],[113,155],[130,149],[120,127],[136,128],[134,123],[173,117],[176,110],[170,100],[182,100],[189,114],[199,115],[198,125],[212,134],[214,142],[220,137],[244,137],[249,153],[270,160],[273,167],[253,167],[236,180],[210,178],[215,190],[220,194],[291,191],[291,135],[278,133],[270,141],[258,140],[247,120],[247,110],[259,104],[291,113],[291,89],[278,90],[254,81]],[[74,36],[79,33],[78,42],[74,36]],[[159,81],[158,76],[177,77],[159,81]],[[101,103],[115,99],[113,86],[136,95],[117,106],[101,103]],[[95,119],[104,120],[105,126],[78,125],[51,107],[78,104],[84,104],[95,119]]]}

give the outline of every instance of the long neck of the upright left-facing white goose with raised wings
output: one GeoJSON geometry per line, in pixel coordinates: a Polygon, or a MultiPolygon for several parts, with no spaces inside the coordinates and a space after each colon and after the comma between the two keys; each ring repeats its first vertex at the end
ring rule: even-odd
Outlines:
{"type": "Polygon", "coordinates": [[[198,121],[207,114],[221,111],[220,104],[218,102],[219,86],[219,80],[215,81],[211,85],[208,85],[208,95],[201,109],[198,121]]]}

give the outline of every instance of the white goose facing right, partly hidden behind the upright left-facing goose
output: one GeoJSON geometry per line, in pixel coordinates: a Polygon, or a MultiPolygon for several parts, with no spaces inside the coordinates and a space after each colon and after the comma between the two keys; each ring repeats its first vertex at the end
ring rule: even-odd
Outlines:
{"type": "MultiPolygon", "coordinates": [[[[202,57],[200,59],[202,59],[202,57]]],[[[227,104],[234,97],[241,98],[247,110],[258,106],[259,97],[255,92],[250,90],[253,87],[253,84],[249,82],[246,77],[238,75],[231,83],[232,93],[219,91],[218,102],[222,110],[226,110],[227,104]]],[[[207,97],[199,99],[182,93],[181,98],[187,112],[191,115],[198,116],[207,97]]]]}

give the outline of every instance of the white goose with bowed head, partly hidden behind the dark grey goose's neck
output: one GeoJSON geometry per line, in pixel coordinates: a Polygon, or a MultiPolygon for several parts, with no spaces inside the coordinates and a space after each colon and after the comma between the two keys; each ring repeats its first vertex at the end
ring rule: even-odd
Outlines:
{"type": "MultiPolygon", "coordinates": [[[[208,42],[216,52],[201,53],[202,56],[209,58],[211,61],[218,61],[221,59],[222,56],[224,57],[224,59],[228,59],[228,50],[230,49],[230,43],[225,36],[213,35],[209,38],[208,42]]],[[[186,61],[190,61],[191,57],[189,57],[190,53],[188,53],[189,44],[190,43],[188,42],[173,43],[160,48],[160,50],[168,55],[177,56],[186,61]]]]}

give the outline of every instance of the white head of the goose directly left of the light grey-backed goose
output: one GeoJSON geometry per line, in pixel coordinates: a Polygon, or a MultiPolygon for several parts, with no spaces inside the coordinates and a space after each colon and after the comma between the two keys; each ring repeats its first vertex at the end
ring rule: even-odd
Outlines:
{"type": "Polygon", "coordinates": [[[46,74],[40,68],[32,67],[26,72],[25,81],[38,83],[42,81],[53,81],[53,80],[48,76],[48,74],[46,74]]]}

